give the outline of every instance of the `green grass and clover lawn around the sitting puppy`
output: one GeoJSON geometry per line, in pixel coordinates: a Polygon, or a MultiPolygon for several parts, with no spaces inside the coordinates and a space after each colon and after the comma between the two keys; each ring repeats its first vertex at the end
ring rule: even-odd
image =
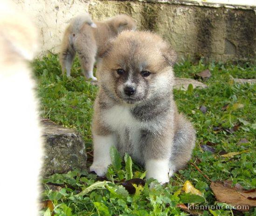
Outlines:
{"type": "MultiPolygon", "coordinates": [[[[72,78],[62,77],[58,57],[53,54],[34,61],[33,67],[38,80],[38,94],[42,101],[42,117],[64,127],[76,128],[83,136],[87,151],[91,151],[90,123],[97,86],[84,81],[77,60],[73,65],[72,78]]],[[[256,188],[256,85],[238,85],[232,79],[256,78],[256,66],[204,61],[193,64],[191,61],[182,61],[174,67],[176,76],[187,78],[193,78],[194,74],[204,69],[209,69],[212,74],[205,82],[208,88],[174,90],[180,112],[187,115],[197,131],[196,147],[191,162],[211,181],[231,180],[233,185],[239,183],[245,189],[256,188]],[[200,110],[202,105],[207,108],[205,114],[200,110]],[[247,142],[240,143],[241,139],[246,139],[247,142]],[[211,147],[210,151],[205,148],[206,144],[211,147]],[[234,157],[221,156],[230,152],[243,153],[234,157]]],[[[98,179],[87,170],[55,174],[44,179],[45,191],[42,200],[48,200],[48,204],[41,210],[41,214],[50,216],[53,211],[55,216],[188,216],[189,213],[177,205],[187,202],[198,202],[203,205],[216,203],[209,188],[210,181],[191,163],[186,169],[174,174],[169,184],[161,186],[155,182],[156,187],[149,189],[147,185],[153,180],[148,180],[145,187],[138,184],[133,191],[135,194],[129,194],[122,186],[124,181],[144,178],[145,170],[136,164],[132,164],[131,167],[128,155],[125,158],[126,162],[120,163],[117,152],[115,149],[112,150],[112,160],[116,163],[109,168],[104,179],[98,179]],[[110,183],[95,184],[99,180],[110,183]],[[180,190],[186,180],[201,191],[203,200],[197,200],[198,197],[180,190]],[[60,186],[58,190],[52,188],[53,184],[60,186]],[[81,191],[84,193],[83,196],[79,194],[81,191]]],[[[89,157],[88,167],[90,163],[89,157]]],[[[191,214],[249,216],[256,215],[256,209],[246,213],[220,209],[191,214]]]]}

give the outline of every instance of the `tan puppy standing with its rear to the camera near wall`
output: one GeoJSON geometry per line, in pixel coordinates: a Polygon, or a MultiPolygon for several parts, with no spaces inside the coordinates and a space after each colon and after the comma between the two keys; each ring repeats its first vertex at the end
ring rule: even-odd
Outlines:
{"type": "Polygon", "coordinates": [[[62,40],[60,52],[62,74],[66,70],[67,76],[70,76],[72,63],[77,52],[85,77],[97,80],[93,76],[93,67],[105,42],[124,30],[135,29],[135,21],[125,14],[95,22],[90,19],[88,13],[75,17],[65,30],[62,40]]]}

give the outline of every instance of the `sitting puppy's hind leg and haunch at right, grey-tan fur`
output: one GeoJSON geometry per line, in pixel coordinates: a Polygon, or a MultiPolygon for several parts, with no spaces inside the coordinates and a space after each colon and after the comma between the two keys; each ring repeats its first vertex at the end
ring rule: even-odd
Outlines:
{"type": "Polygon", "coordinates": [[[176,116],[172,155],[169,161],[170,173],[182,169],[191,159],[195,145],[195,130],[192,124],[181,114],[176,116]]]}

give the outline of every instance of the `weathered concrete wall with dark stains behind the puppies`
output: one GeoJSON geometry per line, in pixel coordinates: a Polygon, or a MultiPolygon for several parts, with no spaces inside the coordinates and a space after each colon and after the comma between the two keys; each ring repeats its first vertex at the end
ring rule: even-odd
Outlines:
{"type": "Polygon", "coordinates": [[[168,40],[179,56],[256,59],[256,8],[177,0],[13,0],[38,26],[42,50],[58,52],[64,28],[87,11],[97,20],[126,13],[168,40]]]}

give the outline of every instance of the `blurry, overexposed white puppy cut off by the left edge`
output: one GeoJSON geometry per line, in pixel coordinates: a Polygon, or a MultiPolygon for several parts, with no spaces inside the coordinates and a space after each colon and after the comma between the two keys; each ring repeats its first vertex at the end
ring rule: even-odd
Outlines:
{"type": "Polygon", "coordinates": [[[0,2],[1,215],[38,215],[42,140],[35,83],[28,60],[37,31],[16,7],[0,2]],[[14,196],[20,197],[14,203],[14,196]],[[27,204],[26,204],[27,203],[27,204]]]}

